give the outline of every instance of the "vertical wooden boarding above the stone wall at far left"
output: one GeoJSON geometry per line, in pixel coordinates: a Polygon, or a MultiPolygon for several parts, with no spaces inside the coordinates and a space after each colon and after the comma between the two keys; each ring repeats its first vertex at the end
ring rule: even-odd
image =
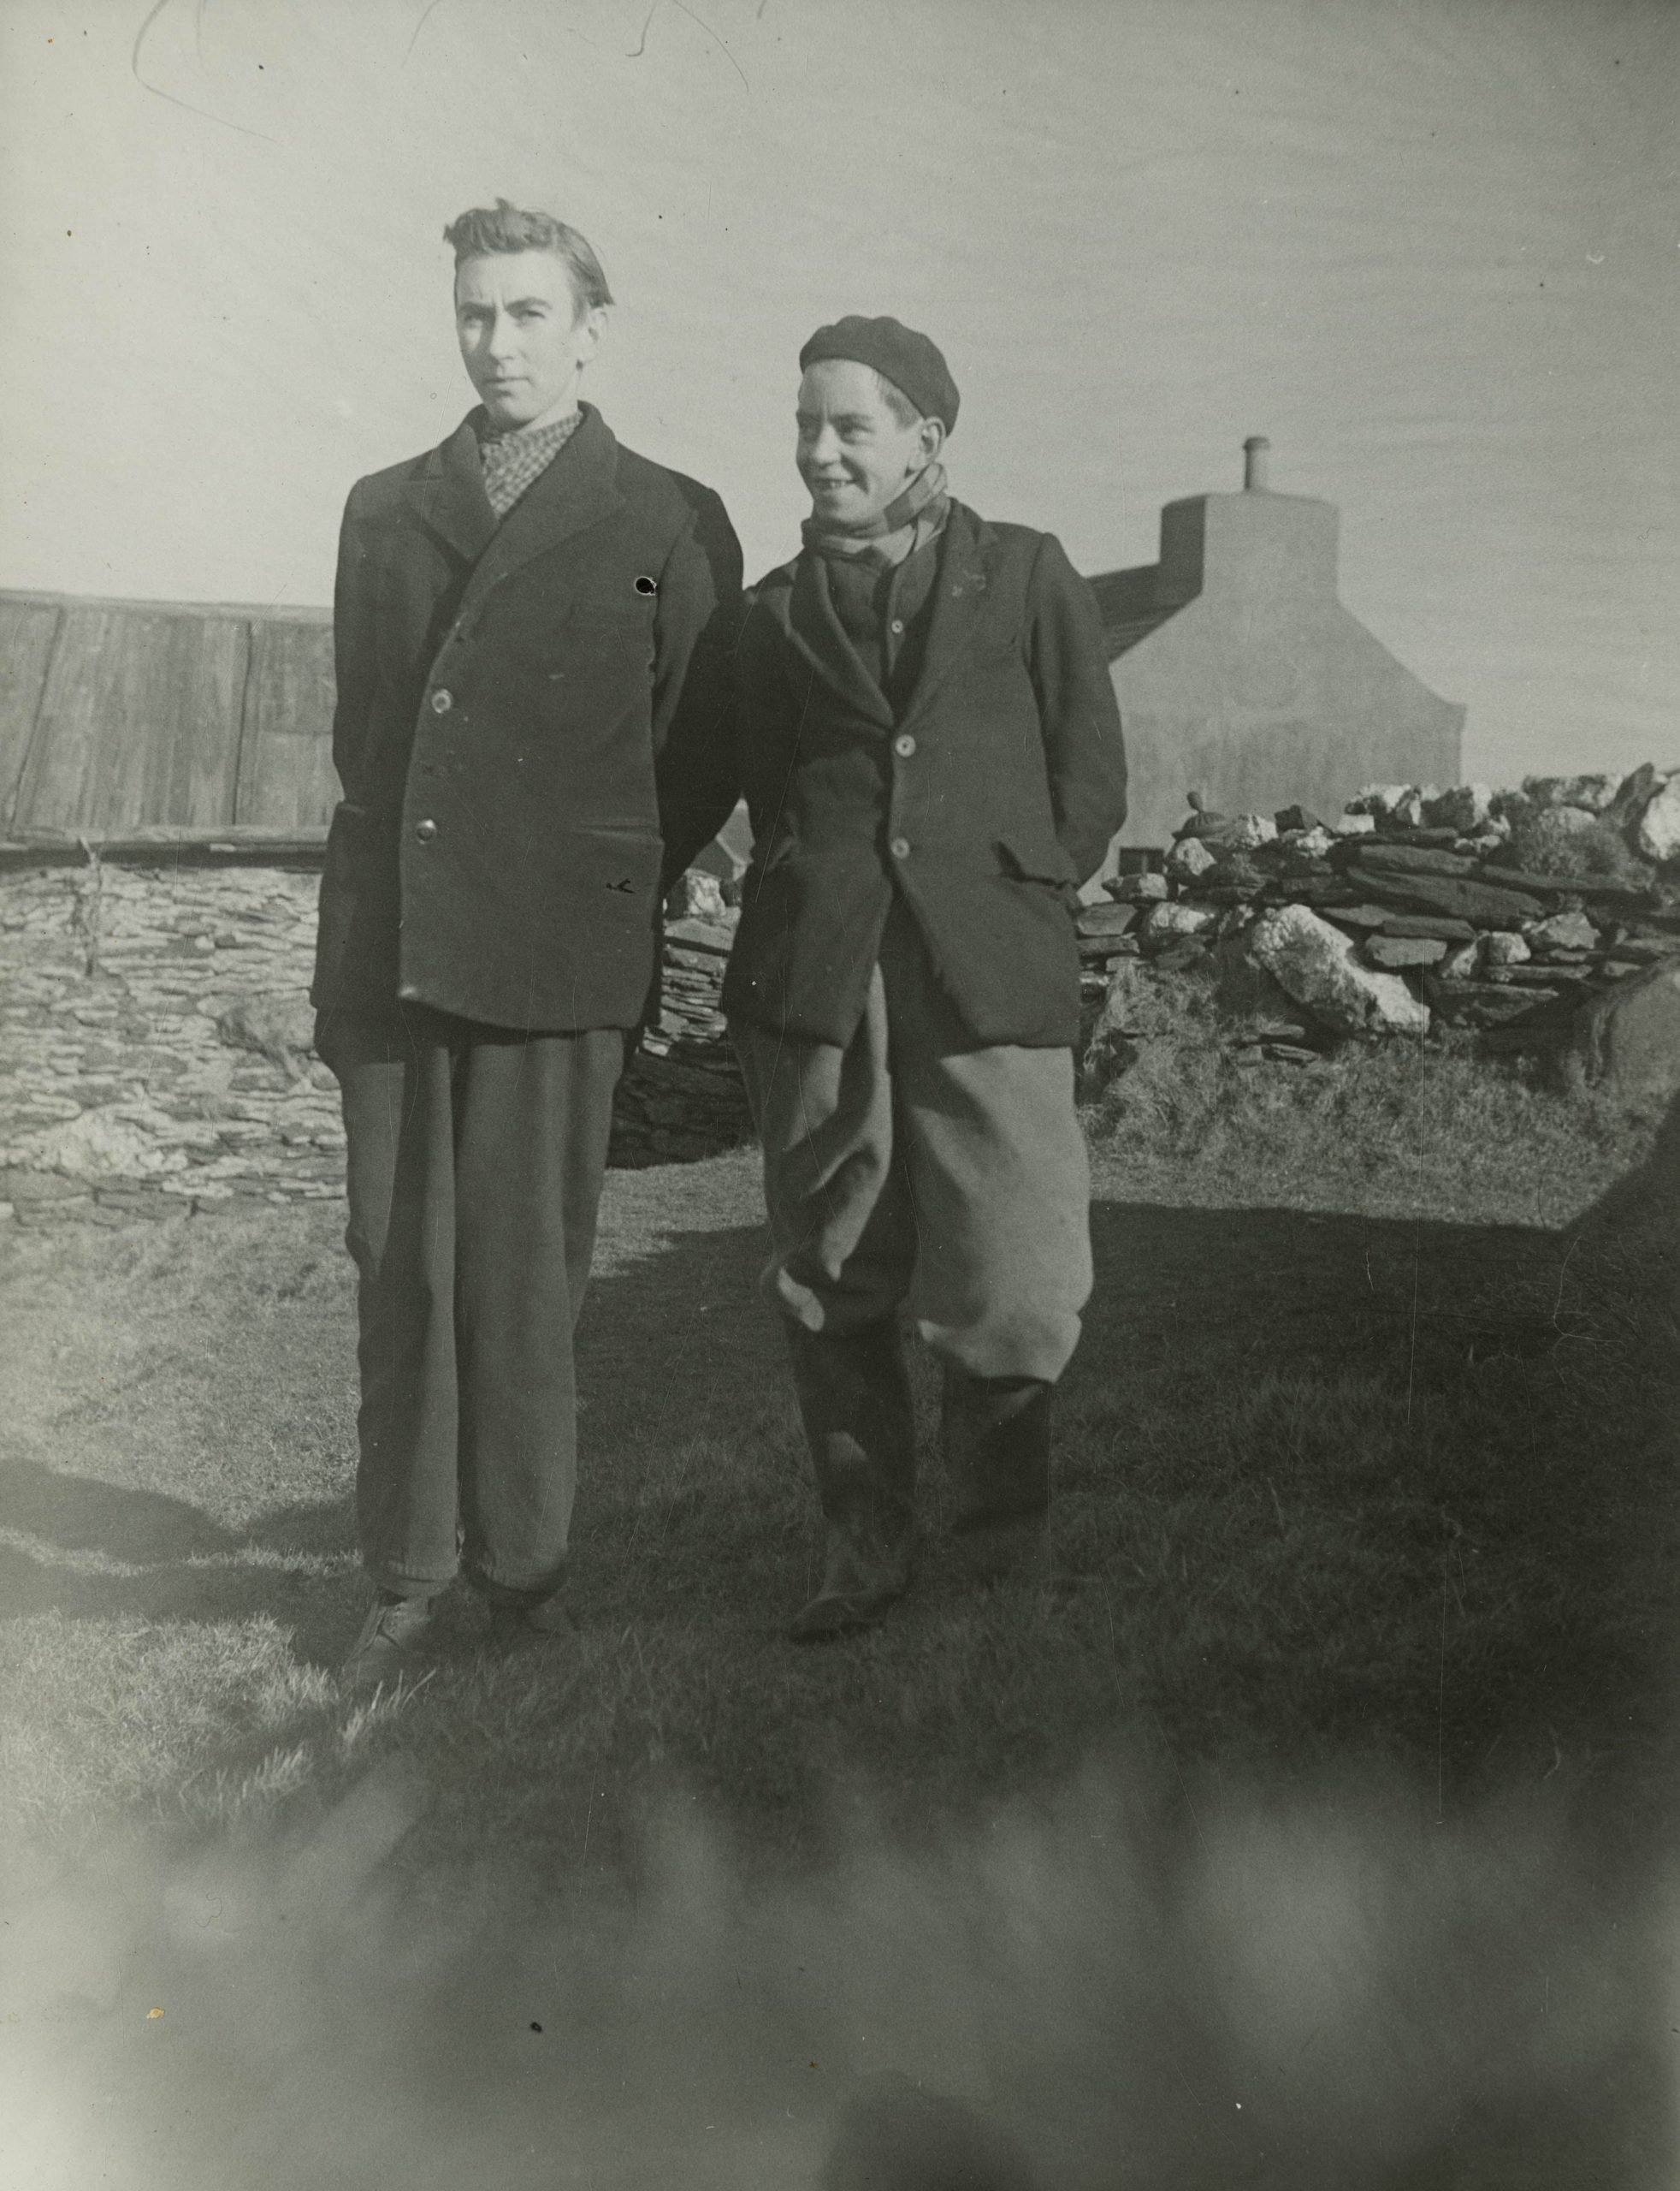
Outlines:
{"type": "Polygon", "coordinates": [[[331,732],[326,609],[0,592],[0,837],[311,835],[331,732]]]}

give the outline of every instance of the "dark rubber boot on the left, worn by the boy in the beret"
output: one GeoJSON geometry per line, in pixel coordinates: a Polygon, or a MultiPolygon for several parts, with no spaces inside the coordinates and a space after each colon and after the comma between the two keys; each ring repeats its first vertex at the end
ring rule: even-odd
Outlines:
{"type": "Polygon", "coordinates": [[[894,1317],[843,1334],[786,1330],[824,1510],[821,1588],[789,1637],[821,1643],[874,1628],[909,1588],[916,1418],[894,1317]]]}

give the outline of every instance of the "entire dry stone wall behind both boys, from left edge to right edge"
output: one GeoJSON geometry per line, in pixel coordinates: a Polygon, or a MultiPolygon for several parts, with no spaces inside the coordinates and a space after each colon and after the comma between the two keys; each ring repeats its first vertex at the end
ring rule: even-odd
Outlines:
{"type": "MultiPolygon", "coordinates": [[[[149,857],[149,854],[147,854],[149,857]]],[[[344,1128],[311,1052],[313,863],[22,863],[0,874],[0,1212],[118,1225],[337,1201],[344,1128]]],[[[611,1161],[749,1133],[718,993],[729,885],[683,879],[659,1025],[611,1161]]],[[[1128,1056],[1137,977],[1211,977],[1255,1056],[1474,1030],[1680,1087],[1680,771],[1522,791],[1369,787],[1332,822],[1192,811],[1161,870],[1080,914],[1089,1060],[1128,1056]]]]}

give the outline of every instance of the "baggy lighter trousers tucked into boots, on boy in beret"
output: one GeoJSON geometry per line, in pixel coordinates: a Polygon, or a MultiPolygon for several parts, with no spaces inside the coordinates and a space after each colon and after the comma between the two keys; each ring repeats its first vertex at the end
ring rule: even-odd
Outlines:
{"type": "Polygon", "coordinates": [[[1071,1049],[977,1047],[894,909],[850,1043],[736,1021],[764,1148],[764,1290],[808,1332],[909,1301],[935,1354],[1054,1383],[1091,1297],[1071,1049]]]}

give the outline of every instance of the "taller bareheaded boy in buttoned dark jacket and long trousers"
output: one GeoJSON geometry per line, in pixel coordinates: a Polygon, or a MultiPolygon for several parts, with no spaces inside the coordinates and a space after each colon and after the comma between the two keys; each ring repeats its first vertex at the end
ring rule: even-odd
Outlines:
{"type": "Polygon", "coordinates": [[[589,243],[506,199],[445,234],[482,405],[353,489],[333,609],[313,999],[359,1273],[357,1683],[423,1663],[460,1567],[508,1639],[565,1632],[572,1328],[740,585],[718,497],[578,403],[589,243]]]}

